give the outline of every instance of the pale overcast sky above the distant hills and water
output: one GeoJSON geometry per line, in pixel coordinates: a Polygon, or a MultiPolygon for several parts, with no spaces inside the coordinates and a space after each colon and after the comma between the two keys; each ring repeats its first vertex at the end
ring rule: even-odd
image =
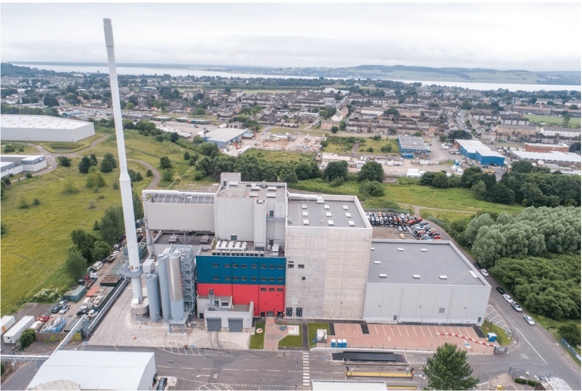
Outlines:
{"type": "Polygon", "coordinates": [[[0,59],[580,71],[581,4],[6,3],[0,59]]]}

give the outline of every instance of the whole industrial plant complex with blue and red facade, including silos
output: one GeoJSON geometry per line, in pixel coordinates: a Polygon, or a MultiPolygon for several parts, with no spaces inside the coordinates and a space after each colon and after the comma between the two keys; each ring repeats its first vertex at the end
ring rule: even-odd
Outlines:
{"type": "Polygon", "coordinates": [[[491,286],[452,243],[372,240],[356,196],[294,194],[224,172],[215,192],[144,190],[143,200],[145,302],[170,331],[194,301],[208,330],[249,330],[257,316],[484,319],[491,286]]]}

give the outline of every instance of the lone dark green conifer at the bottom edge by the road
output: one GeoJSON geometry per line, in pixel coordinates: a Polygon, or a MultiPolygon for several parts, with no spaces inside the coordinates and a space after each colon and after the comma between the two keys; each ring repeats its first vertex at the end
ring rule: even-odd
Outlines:
{"type": "Polygon", "coordinates": [[[439,346],[437,353],[427,357],[423,370],[430,389],[470,390],[479,382],[479,378],[471,376],[473,369],[467,364],[467,352],[452,343],[439,346]]]}

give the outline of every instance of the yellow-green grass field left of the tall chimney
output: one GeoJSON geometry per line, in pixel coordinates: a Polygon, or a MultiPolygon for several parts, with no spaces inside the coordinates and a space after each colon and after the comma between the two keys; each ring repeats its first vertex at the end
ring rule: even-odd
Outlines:
{"type": "MultiPolygon", "coordinates": [[[[41,288],[66,287],[72,281],[61,266],[66,249],[72,245],[70,232],[76,228],[91,230],[105,209],[120,206],[119,190],[112,184],[119,181],[119,169],[103,174],[107,186],[97,193],[86,188],[86,174],[77,170],[80,158],[73,158],[69,168],[59,167],[48,174],[13,182],[2,200],[2,224],[8,232],[2,235],[2,269],[0,272],[2,302],[0,312],[16,305],[41,288]],[[63,192],[66,179],[72,179],[79,193],[63,192]],[[100,198],[100,197],[103,198],[100,198]],[[34,198],[40,205],[28,209],[18,207],[24,197],[31,205],[34,198]]],[[[133,190],[141,192],[150,181],[145,168],[129,162],[129,168],[141,172],[143,181],[133,190]]]]}

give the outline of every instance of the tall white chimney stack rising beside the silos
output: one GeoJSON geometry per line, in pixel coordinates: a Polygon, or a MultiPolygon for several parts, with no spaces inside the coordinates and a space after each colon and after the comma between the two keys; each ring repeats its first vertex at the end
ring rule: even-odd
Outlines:
{"type": "Polygon", "coordinates": [[[125,141],[123,140],[123,121],[121,118],[115,51],[113,48],[113,29],[111,27],[111,19],[108,17],[103,19],[103,29],[105,30],[105,46],[107,46],[107,61],[109,63],[109,82],[111,83],[111,100],[113,102],[113,119],[115,120],[115,136],[117,139],[117,152],[119,154],[119,168],[121,171],[119,175],[119,188],[121,189],[123,220],[125,221],[127,255],[129,255],[129,269],[131,272],[134,272],[132,273],[132,304],[140,304],[143,301],[143,293],[141,292],[141,265],[137,253],[136,223],[133,214],[132,183],[129,179],[129,174],[127,174],[125,141]]]}

